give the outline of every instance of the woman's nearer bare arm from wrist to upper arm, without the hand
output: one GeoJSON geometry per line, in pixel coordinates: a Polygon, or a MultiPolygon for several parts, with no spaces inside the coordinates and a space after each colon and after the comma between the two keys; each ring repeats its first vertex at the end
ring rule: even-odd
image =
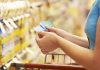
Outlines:
{"type": "Polygon", "coordinates": [[[59,43],[60,48],[79,64],[83,65],[89,70],[100,70],[100,17],[97,23],[94,50],[80,47],[61,37],[58,38],[57,42],[59,43]]]}

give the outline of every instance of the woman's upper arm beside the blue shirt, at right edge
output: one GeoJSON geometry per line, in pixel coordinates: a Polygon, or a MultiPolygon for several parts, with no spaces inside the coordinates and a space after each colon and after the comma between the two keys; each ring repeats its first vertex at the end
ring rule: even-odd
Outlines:
{"type": "Polygon", "coordinates": [[[96,29],[96,42],[94,51],[94,62],[96,64],[96,70],[100,70],[100,16],[97,23],[96,29]]]}

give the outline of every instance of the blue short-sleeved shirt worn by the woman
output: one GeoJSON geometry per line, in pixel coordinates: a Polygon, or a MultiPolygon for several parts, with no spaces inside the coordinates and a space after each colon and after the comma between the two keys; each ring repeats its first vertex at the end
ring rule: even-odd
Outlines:
{"type": "Polygon", "coordinates": [[[93,49],[96,39],[96,25],[100,16],[100,0],[95,0],[86,21],[85,32],[89,39],[89,48],[93,49]]]}

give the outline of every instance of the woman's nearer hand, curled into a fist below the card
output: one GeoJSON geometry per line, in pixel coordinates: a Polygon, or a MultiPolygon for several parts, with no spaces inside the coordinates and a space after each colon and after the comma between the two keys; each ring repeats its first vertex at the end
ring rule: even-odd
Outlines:
{"type": "Polygon", "coordinates": [[[38,32],[36,41],[43,53],[51,52],[58,48],[57,35],[53,32],[38,32]]]}

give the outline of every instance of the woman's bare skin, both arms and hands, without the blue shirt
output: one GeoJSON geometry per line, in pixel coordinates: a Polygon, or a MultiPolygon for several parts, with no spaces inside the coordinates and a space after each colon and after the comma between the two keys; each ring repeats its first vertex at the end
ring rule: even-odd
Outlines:
{"type": "MultiPolygon", "coordinates": [[[[99,18],[100,20],[100,18],[99,18]]],[[[78,64],[88,70],[100,70],[100,21],[97,23],[95,49],[90,50],[88,40],[66,33],[60,29],[49,28],[49,32],[38,32],[36,41],[43,53],[61,48],[78,64]],[[56,46],[56,47],[55,47],[56,46]]]]}

